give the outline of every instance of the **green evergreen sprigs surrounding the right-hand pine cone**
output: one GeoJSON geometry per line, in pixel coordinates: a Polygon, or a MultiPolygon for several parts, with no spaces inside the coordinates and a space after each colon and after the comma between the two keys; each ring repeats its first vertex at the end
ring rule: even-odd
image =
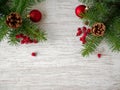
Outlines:
{"type": "Polygon", "coordinates": [[[108,42],[112,51],[120,51],[120,1],[119,0],[79,0],[89,7],[84,14],[84,21],[89,21],[89,26],[96,22],[104,23],[106,26],[105,35],[95,37],[91,34],[87,43],[83,45],[83,56],[88,56],[95,51],[100,42],[104,39],[108,42]]]}

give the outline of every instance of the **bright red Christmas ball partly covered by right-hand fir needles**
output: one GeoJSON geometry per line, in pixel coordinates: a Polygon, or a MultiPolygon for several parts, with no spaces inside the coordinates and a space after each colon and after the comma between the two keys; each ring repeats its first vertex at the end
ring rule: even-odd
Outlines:
{"type": "Polygon", "coordinates": [[[85,13],[85,11],[86,11],[85,5],[79,5],[75,8],[75,14],[80,18],[83,18],[82,14],[85,13]]]}

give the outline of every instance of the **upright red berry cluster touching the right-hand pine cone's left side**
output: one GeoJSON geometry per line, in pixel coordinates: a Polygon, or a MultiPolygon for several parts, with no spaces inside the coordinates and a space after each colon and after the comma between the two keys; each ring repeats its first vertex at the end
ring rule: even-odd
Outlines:
{"type": "Polygon", "coordinates": [[[91,29],[90,28],[86,28],[85,26],[83,26],[82,28],[78,28],[77,30],[77,34],[76,36],[80,36],[82,35],[82,37],[80,37],[80,41],[85,44],[86,43],[86,37],[87,35],[90,33],[91,29]]]}

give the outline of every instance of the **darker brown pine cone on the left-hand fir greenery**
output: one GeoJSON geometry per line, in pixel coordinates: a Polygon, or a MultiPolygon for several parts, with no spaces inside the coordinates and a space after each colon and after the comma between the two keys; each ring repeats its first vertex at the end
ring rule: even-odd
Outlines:
{"type": "Polygon", "coordinates": [[[18,28],[22,25],[22,18],[18,13],[12,12],[7,16],[6,23],[11,28],[18,28]]]}

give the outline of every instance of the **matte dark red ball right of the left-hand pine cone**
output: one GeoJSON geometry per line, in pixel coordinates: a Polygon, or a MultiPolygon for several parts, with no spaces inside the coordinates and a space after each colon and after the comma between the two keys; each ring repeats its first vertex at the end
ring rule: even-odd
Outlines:
{"type": "Polygon", "coordinates": [[[42,13],[36,9],[32,10],[29,15],[30,15],[30,20],[33,22],[39,22],[42,18],[42,13]]]}

